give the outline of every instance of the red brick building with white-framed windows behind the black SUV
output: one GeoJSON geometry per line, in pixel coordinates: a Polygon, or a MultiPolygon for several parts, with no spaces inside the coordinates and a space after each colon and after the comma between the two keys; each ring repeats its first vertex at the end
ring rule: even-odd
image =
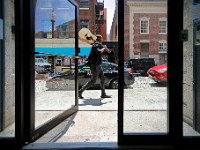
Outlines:
{"type": "MultiPolygon", "coordinates": [[[[116,0],[117,1],[117,0],[116,0]]],[[[157,64],[167,62],[167,1],[125,0],[124,59],[151,57],[157,64]]],[[[111,40],[117,40],[117,8],[111,40]]]]}

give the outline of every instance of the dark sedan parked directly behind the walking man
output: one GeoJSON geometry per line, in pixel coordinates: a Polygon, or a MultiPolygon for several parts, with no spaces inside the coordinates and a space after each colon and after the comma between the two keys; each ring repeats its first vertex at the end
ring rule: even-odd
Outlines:
{"type": "MultiPolygon", "coordinates": [[[[118,65],[111,62],[103,62],[102,69],[105,76],[105,86],[111,89],[118,88],[118,65]]],[[[134,75],[129,71],[130,69],[124,68],[124,87],[132,85],[135,81],[134,75]]],[[[65,79],[74,79],[75,71],[69,70],[58,75],[54,75],[52,78],[65,78],[65,79]]],[[[91,71],[88,65],[80,65],[78,69],[78,84],[79,88],[88,82],[91,78],[91,71]]],[[[94,86],[99,86],[99,79],[94,86]]]]}

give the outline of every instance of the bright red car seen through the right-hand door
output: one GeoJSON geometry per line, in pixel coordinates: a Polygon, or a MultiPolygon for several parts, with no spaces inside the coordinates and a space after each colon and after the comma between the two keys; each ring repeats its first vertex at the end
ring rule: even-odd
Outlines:
{"type": "Polygon", "coordinates": [[[167,81],[167,65],[157,65],[147,71],[149,78],[155,82],[167,81]]]}

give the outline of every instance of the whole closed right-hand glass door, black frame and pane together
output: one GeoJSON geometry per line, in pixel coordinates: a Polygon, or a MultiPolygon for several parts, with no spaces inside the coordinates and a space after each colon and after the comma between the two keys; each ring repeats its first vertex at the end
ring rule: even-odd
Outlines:
{"type": "Polygon", "coordinates": [[[182,2],[126,0],[118,6],[120,76],[128,66],[135,77],[128,89],[119,81],[119,145],[173,143],[182,127],[182,2]]]}

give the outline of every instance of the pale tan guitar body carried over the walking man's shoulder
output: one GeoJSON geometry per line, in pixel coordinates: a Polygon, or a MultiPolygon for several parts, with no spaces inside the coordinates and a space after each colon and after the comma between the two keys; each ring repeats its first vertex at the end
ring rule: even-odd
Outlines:
{"type": "Polygon", "coordinates": [[[86,42],[88,44],[93,44],[97,39],[97,37],[94,34],[92,34],[88,28],[82,28],[78,32],[78,36],[81,41],[86,42]]]}

